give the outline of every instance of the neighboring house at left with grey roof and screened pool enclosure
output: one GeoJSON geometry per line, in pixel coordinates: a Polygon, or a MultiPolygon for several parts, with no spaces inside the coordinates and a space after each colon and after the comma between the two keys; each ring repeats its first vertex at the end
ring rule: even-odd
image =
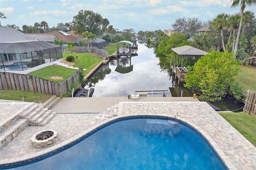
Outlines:
{"type": "Polygon", "coordinates": [[[26,70],[61,58],[61,46],[0,26],[0,71],[26,70]]]}

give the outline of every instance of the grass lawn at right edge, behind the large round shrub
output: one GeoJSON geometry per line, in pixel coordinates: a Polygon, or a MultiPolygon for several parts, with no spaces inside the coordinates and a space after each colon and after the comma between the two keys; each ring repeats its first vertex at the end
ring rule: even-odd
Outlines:
{"type": "Polygon", "coordinates": [[[249,89],[256,91],[256,69],[241,67],[240,72],[235,77],[235,81],[242,87],[244,92],[249,89]]]}

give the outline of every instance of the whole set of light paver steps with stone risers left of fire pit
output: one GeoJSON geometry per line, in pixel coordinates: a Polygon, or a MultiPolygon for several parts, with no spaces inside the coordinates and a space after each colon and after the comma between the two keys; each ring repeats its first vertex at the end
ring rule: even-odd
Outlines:
{"type": "MultiPolygon", "coordinates": [[[[51,103],[57,102],[58,98],[53,98],[51,103]]],[[[48,105],[46,104],[46,106],[48,105]]],[[[24,107],[10,121],[1,127],[0,150],[17,137],[27,126],[45,126],[54,116],[55,112],[44,108],[42,104],[31,103],[24,107]]]]}

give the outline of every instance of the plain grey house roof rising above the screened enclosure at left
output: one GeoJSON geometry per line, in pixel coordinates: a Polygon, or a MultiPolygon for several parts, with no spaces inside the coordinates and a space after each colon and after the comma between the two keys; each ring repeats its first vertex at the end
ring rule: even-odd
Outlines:
{"type": "Polygon", "coordinates": [[[0,26],[0,43],[36,41],[36,39],[13,28],[0,26]]]}

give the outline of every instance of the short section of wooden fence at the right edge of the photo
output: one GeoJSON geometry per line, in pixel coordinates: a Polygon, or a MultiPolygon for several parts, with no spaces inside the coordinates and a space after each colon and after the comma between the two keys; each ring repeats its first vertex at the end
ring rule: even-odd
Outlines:
{"type": "Polygon", "coordinates": [[[251,90],[247,91],[244,112],[249,115],[256,116],[256,92],[251,90]]]}

